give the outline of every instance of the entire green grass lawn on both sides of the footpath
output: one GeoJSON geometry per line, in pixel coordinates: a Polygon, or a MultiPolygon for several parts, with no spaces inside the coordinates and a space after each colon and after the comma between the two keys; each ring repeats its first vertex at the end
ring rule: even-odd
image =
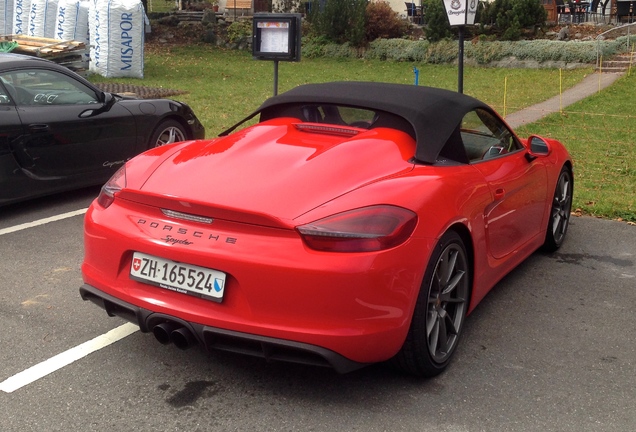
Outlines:
{"type": "MultiPolygon", "coordinates": [[[[413,84],[413,66],[419,69],[420,85],[457,89],[456,66],[303,59],[279,64],[278,91],[304,83],[338,80],[413,84]]],[[[573,86],[591,72],[563,71],[562,88],[573,86]]],[[[90,79],[186,91],[175,98],[192,106],[208,137],[244,118],[274,90],[272,62],[210,45],[147,50],[144,75],[143,80],[99,76],[90,79]]],[[[464,93],[485,101],[502,115],[510,114],[559,94],[559,76],[554,69],[468,67],[464,71],[464,93]]],[[[634,84],[633,77],[626,77],[599,95],[568,107],[564,115],[551,116],[521,131],[555,137],[572,152],[576,163],[574,206],[584,213],[636,221],[636,125],[634,117],[627,116],[634,84]]]]}

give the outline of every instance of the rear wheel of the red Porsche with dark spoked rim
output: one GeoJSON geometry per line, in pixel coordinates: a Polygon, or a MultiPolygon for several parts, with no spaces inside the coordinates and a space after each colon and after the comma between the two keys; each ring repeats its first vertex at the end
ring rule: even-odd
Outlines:
{"type": "Polygon", "coordinates": [[[470,280],[464,243],[456,232],[449,231],[428,263],[409,333],[393,359],[395,365],[422,377],[444,371],[459,343],[470,280]]]}

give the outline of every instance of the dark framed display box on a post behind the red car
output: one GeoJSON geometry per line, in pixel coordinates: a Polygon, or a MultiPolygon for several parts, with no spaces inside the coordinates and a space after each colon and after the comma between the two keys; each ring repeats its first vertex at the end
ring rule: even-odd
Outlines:
{"type": "Polygon", "coordinates": [[[301,14],[254,14],[252,56],[274,61],[274,96],[278,94],[278,62],[300,61],[300,20],[301,14]]]}

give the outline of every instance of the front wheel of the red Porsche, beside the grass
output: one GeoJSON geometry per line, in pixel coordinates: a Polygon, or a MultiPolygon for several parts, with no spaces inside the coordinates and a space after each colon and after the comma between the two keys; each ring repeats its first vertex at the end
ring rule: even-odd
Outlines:
{"type": "Polygon", "coordinates": [[[543,244],[543,249],[547,252],[554,252],[560,248],[565,239],[572,211],[573,186],[572,172],[568,167],[563,167],[554,191],[550,220],[543,244]]]}

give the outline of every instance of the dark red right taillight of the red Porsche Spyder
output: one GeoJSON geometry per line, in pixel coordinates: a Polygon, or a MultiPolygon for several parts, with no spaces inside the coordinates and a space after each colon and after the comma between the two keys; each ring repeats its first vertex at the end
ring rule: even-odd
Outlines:
{"type": "Polygon", "coordinates": [[[338,213],[296,229],[315,250],[373,252],[405,242],[416,224],[417,215],[410,210],[377,205],[338,213]]]}

